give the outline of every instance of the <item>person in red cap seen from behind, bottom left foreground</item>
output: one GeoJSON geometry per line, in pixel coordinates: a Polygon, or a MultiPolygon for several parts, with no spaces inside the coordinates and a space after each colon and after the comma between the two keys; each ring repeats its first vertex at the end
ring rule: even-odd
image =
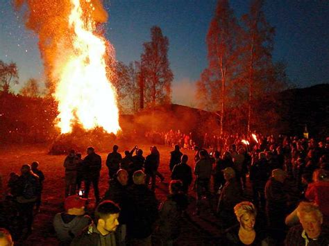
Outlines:
{"type": "Polygon", "coordinates": [[[91,224],[92,219],[85,215],[86,200],[78,195],[70,195],[65,199],[65,212],[57,213],[53,218],[53,228],[60,245],[69,245],[75,236],[91,224]]]}

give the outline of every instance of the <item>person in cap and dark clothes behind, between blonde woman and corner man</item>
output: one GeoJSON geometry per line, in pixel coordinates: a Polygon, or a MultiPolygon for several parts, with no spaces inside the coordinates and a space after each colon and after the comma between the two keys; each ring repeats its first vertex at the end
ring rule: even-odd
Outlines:
{"type": "Polygon", "coordinates": [[[267,223],[272,238],[282,243],[285,238],[285,216],[287,215],[287,193],[284,182],[287,173],[280,169],[272,170],[265,185],[267,223]]]}

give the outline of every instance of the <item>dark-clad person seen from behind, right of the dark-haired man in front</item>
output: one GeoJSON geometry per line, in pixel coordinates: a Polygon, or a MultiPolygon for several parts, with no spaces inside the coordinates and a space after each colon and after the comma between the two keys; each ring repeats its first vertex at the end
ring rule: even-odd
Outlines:
{"type": "Polygon", "coordinates": [[[145,174],[138,170],[133,175],[133,186],[128,188],[129,220],[127,236],[130,245],[151,246],[153,224],[158,218],[158,200],[145,184],[145,174]]]}

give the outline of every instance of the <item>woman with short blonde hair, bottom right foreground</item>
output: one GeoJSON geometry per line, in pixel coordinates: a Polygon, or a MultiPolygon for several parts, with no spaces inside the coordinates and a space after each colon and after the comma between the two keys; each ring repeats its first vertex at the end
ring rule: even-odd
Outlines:
{"type": "Polygon", "coordinates": [[[228,229],[226,245],[274,245],[266,234],[255,230],[257,211],[252,202],[236,204],[234,213],[239,222],[239,227],[228,229]]]}

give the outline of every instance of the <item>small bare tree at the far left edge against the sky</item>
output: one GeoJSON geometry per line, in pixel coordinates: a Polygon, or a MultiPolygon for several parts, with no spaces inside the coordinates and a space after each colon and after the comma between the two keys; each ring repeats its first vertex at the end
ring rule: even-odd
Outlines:
{"type": "Polygon", "coordinates": [[[8,93],[10,84],[18,84],[18,69],[16,63],[6,64],[0,60],[0,88],[4,93],[8,93]]]}

